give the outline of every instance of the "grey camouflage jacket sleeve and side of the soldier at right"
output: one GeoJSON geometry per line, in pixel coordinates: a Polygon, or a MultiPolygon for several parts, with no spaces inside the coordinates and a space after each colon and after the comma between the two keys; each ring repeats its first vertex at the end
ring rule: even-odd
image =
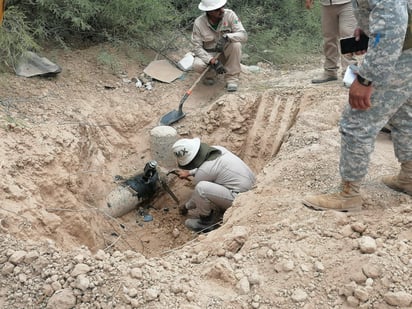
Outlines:
{"type": "Polygon", "coordinates": [[[402,53],[410,53],[412,57],[411,49],[405,50],[410,40],[408,15],[412,0],[352,0],[352,5],[358,27],[369,36],[368,52],[359,74],[371,81],[384,82],[402,53]]]}

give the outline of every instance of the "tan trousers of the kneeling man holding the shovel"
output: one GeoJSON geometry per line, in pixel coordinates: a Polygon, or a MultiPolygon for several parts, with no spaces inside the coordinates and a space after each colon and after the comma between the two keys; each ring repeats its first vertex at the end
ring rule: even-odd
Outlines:
{"type": "MultiPolygon", "coordinates": [[[[210,53],[210,56],[214,57],[216,53],[210,53]]],[[[225,66],[225,81],[226,83],[238,82],[239,74],[241,72],[240,60],[242,58],[242,44],[239,42],[234,42],[227,44],[223,50],[223,54],[218,58],[219,61],[222,61],[225,66]]],[[[193,70],[198,73],[202,73],[207,67],[202,59],[195,57],[193,61],[193,70]]],[[[216,74],[213,69],[209,70],[207,76],[212,76],[216,74]]]]}

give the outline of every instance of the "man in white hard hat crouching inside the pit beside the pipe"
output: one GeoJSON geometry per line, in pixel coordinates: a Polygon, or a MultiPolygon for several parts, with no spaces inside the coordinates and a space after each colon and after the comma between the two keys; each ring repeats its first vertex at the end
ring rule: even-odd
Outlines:
{"type": "Polygon", "coordinates": [[[252,170],[225,147],[209,146],[199,138],[180,139],[173,144],[172,151],[181,168],[177,170],[179,178],[194,177],[194,192],[179,211],[185,215],[196,208],[199,218],[187,219],[185,225],[195,232],[217,228],[221,215],[237,194],[252,188],[252,170]]]}

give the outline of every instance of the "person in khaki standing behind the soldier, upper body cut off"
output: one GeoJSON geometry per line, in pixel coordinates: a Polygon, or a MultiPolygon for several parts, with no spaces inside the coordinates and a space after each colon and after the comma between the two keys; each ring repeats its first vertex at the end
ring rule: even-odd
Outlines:
{"type": "MultiPolygon", "coordinates": [[[[313,6],[314,0],[306,0],[306,8],[313,6]]],[[[312,80],[319,84],[338,79],[339,59],[342,73],[350,64],[356,64],[352,54],[340,55],[339,39],[350,37],[356,26],[351,0],[320,0],[322,5],[323,54],[325,61],[322,74],[312,80]]]]}

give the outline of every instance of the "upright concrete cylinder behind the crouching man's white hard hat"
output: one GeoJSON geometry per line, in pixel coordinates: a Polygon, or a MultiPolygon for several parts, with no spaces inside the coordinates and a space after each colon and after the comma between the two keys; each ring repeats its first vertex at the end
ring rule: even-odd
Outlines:
{"type": "Polygon", "coordinates": [[[170,126],[157,126],[150,131],[150,151],[159,166],[172,169],[177,166],[172,146],[177,141],[177,131],[170,126]]]}

